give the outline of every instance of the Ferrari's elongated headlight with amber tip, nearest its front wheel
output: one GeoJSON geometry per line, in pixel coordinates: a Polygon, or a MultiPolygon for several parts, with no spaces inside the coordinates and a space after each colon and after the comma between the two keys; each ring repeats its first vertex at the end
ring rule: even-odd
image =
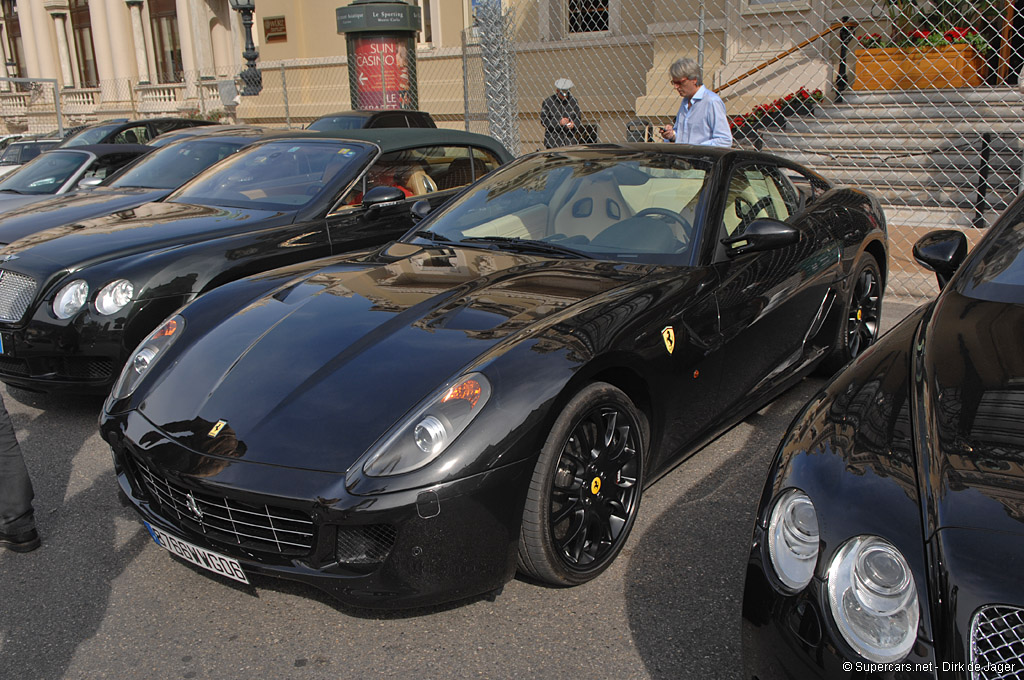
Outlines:
{"type": "Polygon", "coordinates": [[[417,470],[449,448],[490,398],[490,383],[479,373],[463,376],[440,390],[377,447],[362,465],[372,477],[417,470]]]}

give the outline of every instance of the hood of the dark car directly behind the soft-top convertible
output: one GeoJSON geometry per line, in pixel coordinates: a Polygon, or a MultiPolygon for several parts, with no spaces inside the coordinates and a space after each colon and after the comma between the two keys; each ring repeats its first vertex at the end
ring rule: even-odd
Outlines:
{"type": "Polygon", "coordinates": [[[34,204],[32,210],[10,210],[0,213],[0,244],[12,243],[30,233],[54,226],[135,208],[150,201],[159,201],[168,194],[170,190],[163,188],[101,186],[91,192],[43,197],[46,200],[34,204]]]}

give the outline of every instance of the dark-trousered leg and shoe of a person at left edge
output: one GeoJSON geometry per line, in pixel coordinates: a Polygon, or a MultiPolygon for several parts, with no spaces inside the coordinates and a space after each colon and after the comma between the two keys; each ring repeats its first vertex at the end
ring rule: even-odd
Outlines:
{"type": "Polygon", "coordinates": [[[0,397],[0,547],[28,552],[39,547],[32,513],[32,480],[0,397]]]}

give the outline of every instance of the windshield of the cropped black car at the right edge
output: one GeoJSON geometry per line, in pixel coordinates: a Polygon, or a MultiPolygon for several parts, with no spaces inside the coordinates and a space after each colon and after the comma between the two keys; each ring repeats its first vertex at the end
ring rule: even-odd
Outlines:
{"type": "Polygon", "coordinates": [[[1024,302],[1024,201],[992,226],[957,281],[968,297],[996,302],[1024,302]]]}

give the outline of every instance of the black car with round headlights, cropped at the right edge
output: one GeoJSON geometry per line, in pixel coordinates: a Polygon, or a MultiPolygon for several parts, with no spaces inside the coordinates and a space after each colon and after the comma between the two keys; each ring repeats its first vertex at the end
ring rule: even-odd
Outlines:
{"type": "Polygon", "coordinates": [[[1024,677],[1024,196],[810,400],[754,529],[744,677],[1024,677]]]}

